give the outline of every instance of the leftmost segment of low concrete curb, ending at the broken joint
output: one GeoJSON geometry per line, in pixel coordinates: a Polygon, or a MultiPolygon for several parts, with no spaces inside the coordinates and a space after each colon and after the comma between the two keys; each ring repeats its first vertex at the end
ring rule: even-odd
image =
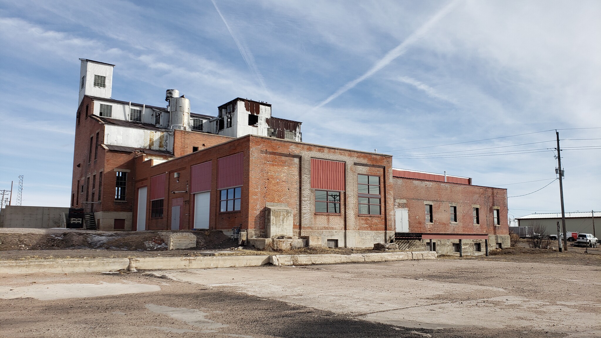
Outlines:
{"type": "Polygon", "coordinates": [[[127,258],[2,260],[0,275],[118,271],[127,269],[127,266],[129,266],[127,258]]]}

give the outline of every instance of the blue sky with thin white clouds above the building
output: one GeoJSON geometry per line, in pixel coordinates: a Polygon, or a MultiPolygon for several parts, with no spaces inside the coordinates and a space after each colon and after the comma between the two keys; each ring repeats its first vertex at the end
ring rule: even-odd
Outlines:
{"type": "MultiPolygon", "coordinates": [[[[306,142],[528,194],[557,166],[554,143],[538,143],[555,133],[535,132],[601,127],[599,17],[599,1],[4,0],[0,189],[23,174],[23,205],[68,206],[78,59],[89,58],[117,65],[114,99],[164,105],[177,88],[210,115],[234,97],[263,100],[302,121],[306,142]],[[542,151],[406,156],[526,143],[465,154],[542,151]]],[[[560,136],[601,146],[573,140],[601,129],[560,136]]],[[[564,152],[567,210],[601,209],[600,155],[564,152]]],[[[558,210],[558,182],[509,206],[515,217],[558,210]]]]}

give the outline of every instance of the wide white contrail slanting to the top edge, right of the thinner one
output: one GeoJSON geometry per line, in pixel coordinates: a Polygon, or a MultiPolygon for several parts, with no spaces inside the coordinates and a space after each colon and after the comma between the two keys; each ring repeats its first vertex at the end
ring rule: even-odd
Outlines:
{"type": "MultiPolygon", "coordinates": [[[[407,37],[403,42],[401,42],[400,45],[396,46],[394,49],[392,49],[391,51],[386,53],[386,55],[384,55],[384,57],[382,59],[380,59],[373,66],[371,66],[371,68],[367,72],[365,72],[364,75],[361,75],[358,78],[354,79],[353,81],[350,81],[347,84],[340,87],[337,91],[335,91],[334,94],[329,96],[327,99],[323,100],[315,108],[320,108],[321,106],[325,105],[326,103],[330,102],[331,100],[334,100],[335,98],[337,98],[338,96],[340,96],[341,94],[343,94],[344,92],[349,90],[350,88],[355,87],[359,82],[363,81],[364,79],[369,78],[371,75],[374,75],[374,73],[376,73],[378,70],[388,66],[388,64],[391,63],[392,61],[394,61],[395,58],[398,58],[401,55],[405,54],[405,52],[407,51],[407,48],[410,45],[412,45],[412,43],[415,43],[415,41],[419,40],[419,38],[421,38],[424,34],[426,34],[426,32],[429,31],[429,29],[432,28],[432,26],[435,25],[436,22],[438,22],[440,19],[442,19],[442,17],[447,15],[451,11],[451,9],[457,4],[457,2],[459,2],[459,1],[458,0],[451,1],[449,4],[447,4],[441,10],[439,10],[438,13],[434,14],[434,16],[432,16],[426,23],[424,23],[421,27],[419,27],[415,32],[413,32],[413,34],[409,35],[409,37],[407,37]]],[[[213,3],[215,3],[215,2],[213,1],[213,3]]]]}

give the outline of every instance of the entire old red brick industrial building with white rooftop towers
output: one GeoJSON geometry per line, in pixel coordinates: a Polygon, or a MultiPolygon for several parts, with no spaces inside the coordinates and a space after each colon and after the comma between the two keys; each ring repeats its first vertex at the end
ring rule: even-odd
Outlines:
{"type": "Polygon", "coordinates": [[[301,123],[272,117],[265,102],[237,98],[212,117],[192,113],[176,90],[166,108],[114,100],[112,67],[82,60],[72,208],[84,209],[87,227],[439,252],[508,246],[505,189],[303,143],[301,123]]]}

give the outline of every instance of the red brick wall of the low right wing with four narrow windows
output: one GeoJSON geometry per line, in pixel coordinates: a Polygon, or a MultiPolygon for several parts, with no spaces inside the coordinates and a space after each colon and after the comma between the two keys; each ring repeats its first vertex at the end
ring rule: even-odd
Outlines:
{"type": "Polygon", "coordinates": [[[409,232],[487,233],[508,235],[507,189],[394,177],[395,207],[409,209],[409,232]],[[406,200],[406,201],[402,201],[406,200]],[[432,202],[433,224],[426,223],[424,201],[432,202]],[[457,224],[450,222],[450,203],[457,206],[457,224]],[[472,205],[480,205],[480,225],[474,225],[472,205]],[[493,224],[499,207],[500,226],[493,224]]]}

